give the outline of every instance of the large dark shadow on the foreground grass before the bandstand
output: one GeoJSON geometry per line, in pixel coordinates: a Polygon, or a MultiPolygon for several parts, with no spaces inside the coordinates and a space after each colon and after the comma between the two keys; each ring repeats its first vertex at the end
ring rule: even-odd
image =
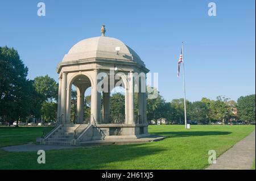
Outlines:
{"type": "Polygon", "coordinates": [[[31,152],[13,154],[0,150],[0,155],[3,153],[0,156],[0,169],[139,169],[145,164],[144,161],[138,161],[139,158],[164,150],[151,144],[49,150],[46,153],[47,164],[38,164],[38,155],[31,155],[31,152]]]}

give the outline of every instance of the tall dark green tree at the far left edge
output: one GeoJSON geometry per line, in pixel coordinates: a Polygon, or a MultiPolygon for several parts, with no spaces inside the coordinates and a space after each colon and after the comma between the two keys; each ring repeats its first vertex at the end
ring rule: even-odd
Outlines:
{"type": "Polygon", "coordinates": [[[14,48],[0,47],[0,116],[6,121],[25,119],[31,111],[34,90],[27,72],[14,48]]]}

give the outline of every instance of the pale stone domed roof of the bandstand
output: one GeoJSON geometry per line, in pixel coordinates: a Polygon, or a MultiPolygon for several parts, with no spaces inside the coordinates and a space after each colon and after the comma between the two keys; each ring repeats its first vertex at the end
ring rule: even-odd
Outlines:
{"type": "Polygon", "coordinates": [[[63,62],[79,61],[86,58],[135,61],[145,66],[144,62],[133,49],[125,45],[122,41],[113,37],[106,37],[104,34],[81,40],[73,45],[69,52],[65,54],[63,62]],[[118,52],[115,50],[117,47],[119,47],[118,52]]]}

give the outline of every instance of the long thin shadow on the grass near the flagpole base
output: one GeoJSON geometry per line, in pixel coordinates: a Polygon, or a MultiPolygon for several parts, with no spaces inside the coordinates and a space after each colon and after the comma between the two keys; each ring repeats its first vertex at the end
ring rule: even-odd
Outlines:
{"type": "Polygon", "coordinates": [[[190,136],[212,136],[212,135],[227,135],[232,132],[220,132],[220,131],[191,131],[191,132],[154,132],[151,134],[158,134],[166,136],[168,138],[175,137],[190,137],[190,136]]]}

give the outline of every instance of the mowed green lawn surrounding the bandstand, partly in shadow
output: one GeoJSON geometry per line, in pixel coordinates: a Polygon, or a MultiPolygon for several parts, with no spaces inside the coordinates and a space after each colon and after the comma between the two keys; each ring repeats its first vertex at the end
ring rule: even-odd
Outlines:
{"type": "MultiPolygon", "coordinates": [[[[40,137],[44,128],[0,127],[0,147],[25,144],[40,137]]],[[[205,169],[208,151],[217,156],[249,135],[253,125],[150,125],[151,134],[167,138],[134,145],[111,145],[46,151],[46,164],[33,152],[0,149],[0,169],[205,169]]]]}

